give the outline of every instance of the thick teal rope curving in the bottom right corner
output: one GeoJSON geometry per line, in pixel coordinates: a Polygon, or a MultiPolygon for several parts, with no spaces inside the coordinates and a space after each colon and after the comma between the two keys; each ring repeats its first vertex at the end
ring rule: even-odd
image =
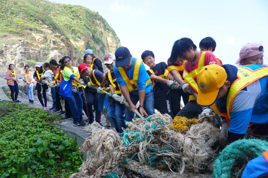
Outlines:
{"type": "Polygon", "coordinates": [[[268,150],[268,142],[256,139],[237,140],[227,145],[216,159],[213,169],[213,178],[231,177],[231,169],[234,162],[244,155],[252,154],[258,157],[262,152],[268,150]]]}

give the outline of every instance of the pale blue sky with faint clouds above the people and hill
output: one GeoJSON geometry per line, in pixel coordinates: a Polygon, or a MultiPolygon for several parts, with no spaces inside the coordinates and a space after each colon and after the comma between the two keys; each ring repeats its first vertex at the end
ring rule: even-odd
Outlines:
{"type": "Polygon", "coordinates": [[[212,36],[217,43],[214,54],[224,64],[234,64],[247,43],[262,44],[264,63],[268,64],[267,0],[53,2],[82,5],[99,12],[135,58],[151,50],[156,62],[167,62],[175,40],[189,37],[199,50],[200,40],[212,36]]]}

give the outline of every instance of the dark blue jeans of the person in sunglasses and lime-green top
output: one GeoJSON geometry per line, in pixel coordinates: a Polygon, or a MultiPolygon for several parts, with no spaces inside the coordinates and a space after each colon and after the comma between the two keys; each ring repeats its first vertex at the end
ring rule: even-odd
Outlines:
{"type": "Polygon", "coordinates": [[[83,120],[82,112],[83,112],[83,100],[81,96],[77,92],[72,91],[71,97],[64,96],[65,101],[69,104],[69,108],[73,115],[73,122],[79,122],[83,120]]]}

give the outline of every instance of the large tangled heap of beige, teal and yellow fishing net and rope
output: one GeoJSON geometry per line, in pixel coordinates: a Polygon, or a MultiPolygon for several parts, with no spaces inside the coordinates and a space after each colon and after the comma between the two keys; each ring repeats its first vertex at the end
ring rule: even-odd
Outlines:
{"type": "Polygon", "coordinates": [[[184,117],[173,120],[157,112],[132,121],[126,122],[128,128],[121,138],[95,122],[88,125],[92,136],[81,146],[87,160],[71,178],[131,177],[129,171],[135,177],[194,177],[204,169],[212,171],[223,146],[215,127],[216,115],[208,122],[184,117]]]}

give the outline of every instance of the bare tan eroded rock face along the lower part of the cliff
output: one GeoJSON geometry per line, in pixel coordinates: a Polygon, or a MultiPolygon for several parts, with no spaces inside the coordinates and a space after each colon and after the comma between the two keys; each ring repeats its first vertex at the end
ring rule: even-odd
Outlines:
{"type": "MultiPolygon", "coordinates": [[[[20,73],[24,72],[25,65],[29,65],[30,71],[34,71],[36,62],[45,63],[51,59],[59,61],[63,56],[69,56],[73,61],[73,66],[83,62],[81,52],[86,50],[86,43],[90,42],[90,39],[83,38],[80,42],[70,40],[70,43],[65,36],[47,29],[44,31],[49,32],[54,38],[44,34],[32,34],[37,42],[23,38],[13,38],[17,40],[17,44],[12,46],[3,44],[3,49],[0,49],[0,71],[7,71],[9,64],[14,64],[15,70],[20,73]],[[75,50],[74,46],[78,46],[82,51],[75,50]]],[[[116,48],[121,46],[120,42],[118,43],[112,37],[103,38],[103,42],[109,45],[104,47],[106,53],[114,53],[116,48]]],[[[101,50],[103,47],[97,44],[95,47],[97,49],[97,54],[95,55],[102,59],[105,55],[101,50]]]]}

